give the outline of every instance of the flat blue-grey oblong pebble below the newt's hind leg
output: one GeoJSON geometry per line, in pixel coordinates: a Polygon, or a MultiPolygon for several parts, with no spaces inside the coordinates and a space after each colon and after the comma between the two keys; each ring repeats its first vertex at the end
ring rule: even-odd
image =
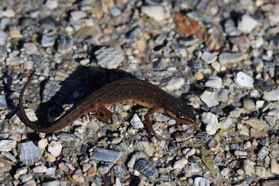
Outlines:
{"type": "Polygon", "coordinates": [[[93,148],[91,154],[94,160],[100,162],[117,162],[122,157],[122,152],[117,150],[107,150],[104,148],[93,148]]]}

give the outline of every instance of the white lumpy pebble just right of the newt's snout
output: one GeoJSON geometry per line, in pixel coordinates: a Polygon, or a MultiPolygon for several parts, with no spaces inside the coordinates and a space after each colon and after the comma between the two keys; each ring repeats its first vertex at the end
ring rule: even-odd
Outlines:
{"type": "Polygon", "coordinates": [[[218,129],[218,119],[213,113],[202,113],[201,121],[206,124],[206,133],[214,135],[218,129]]]}

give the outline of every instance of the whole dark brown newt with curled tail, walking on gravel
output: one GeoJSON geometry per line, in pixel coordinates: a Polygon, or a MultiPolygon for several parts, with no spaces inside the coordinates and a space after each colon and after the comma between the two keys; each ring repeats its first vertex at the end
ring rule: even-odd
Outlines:
{"type": "Polygon", "coordinates": [[[31,78],[25,83],[20,93],[20,114],[21,121],[31,129],[43,133],[52,133],[59,131],[68,126],[85,113],[96,111],[99,113],[102,122],[108,122],[112,113],[106,106],[113,106],[120,103],[136,103],[140,106],[149,108],[148,113],[145,114],[144,126],[148,129],[150,134],[156,138],[155,131],[152,128],[150,116],[155,113],[166,113],[182,124],[194,124],[196,116],[192,106],[187,105],[175,96],[164,92],[159,87],[152,85],[143,80],[138,79],[124,79],[117,80],[113,83],[108,83],[101,89],[93,92],[85,99],[79,101],[75,106],[68,110],[58,120],[52,122],[49,126],[38,126],[35,122],[31,122],[24,110],[23,94],[30,83],[31,78]]]}

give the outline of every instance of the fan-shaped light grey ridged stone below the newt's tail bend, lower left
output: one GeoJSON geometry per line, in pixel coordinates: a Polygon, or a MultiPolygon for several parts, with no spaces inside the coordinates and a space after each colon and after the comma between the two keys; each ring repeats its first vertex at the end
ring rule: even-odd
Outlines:
{"type": "Polygon", "coordinates": [[[22,161],[26,165],[34,165],[34,163],[38,162],[43,156],[44,150],[38,148],[33,141],[28,141],[26,143],[19,143],[17,145],[18,155],[20,157],[20,161],[22,161]]]}

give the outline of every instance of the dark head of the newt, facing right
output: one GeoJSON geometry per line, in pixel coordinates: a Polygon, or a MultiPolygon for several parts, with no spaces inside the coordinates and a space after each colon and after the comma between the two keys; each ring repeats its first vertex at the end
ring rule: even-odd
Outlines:
{"type": "Polygon", "coordinates": [[[196,122],[194,109],[176,97],[164,101],[164,111],[181,124],[191,125],[196,122]]]}

